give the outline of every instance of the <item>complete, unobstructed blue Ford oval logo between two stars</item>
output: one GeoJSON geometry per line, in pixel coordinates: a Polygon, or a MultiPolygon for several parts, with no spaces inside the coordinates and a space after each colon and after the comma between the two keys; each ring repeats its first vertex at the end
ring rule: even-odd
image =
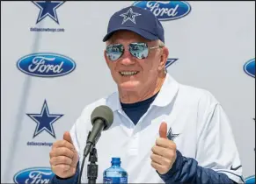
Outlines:
{"type": "Polygon", "coordinates": [[[58,53],[32,53],[20,58],[18,69],[38,77],[58,77],[71,73],[76,68],[74,60],[58,53]]]}

